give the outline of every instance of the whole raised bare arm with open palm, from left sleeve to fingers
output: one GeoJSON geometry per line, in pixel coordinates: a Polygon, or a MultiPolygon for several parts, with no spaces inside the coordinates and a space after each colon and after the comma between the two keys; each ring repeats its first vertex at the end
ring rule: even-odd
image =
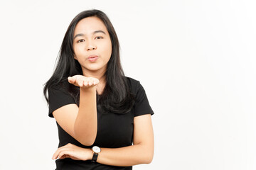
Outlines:
{"type": "Polygon", "coordinates": [[[68,104],[53,111],[53,116],[61,128],[82,145],[91,146],[97,135],[96,85],[98,79],[81,75],[68,81],[80,86],[80,104],[68,104]]]}

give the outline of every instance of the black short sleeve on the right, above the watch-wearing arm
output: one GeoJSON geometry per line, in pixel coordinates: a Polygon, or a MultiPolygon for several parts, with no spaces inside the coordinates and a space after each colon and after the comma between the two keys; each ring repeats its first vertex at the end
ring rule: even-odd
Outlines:
{"type": "Polygon", "coordinates": [[[134,117],[145,114],[154,115],[154,111],[149,105],[149,100],[146,97],[146,91],[144,90],[142,84],[137,81],[137,93],[134,103],[134,117]]]}

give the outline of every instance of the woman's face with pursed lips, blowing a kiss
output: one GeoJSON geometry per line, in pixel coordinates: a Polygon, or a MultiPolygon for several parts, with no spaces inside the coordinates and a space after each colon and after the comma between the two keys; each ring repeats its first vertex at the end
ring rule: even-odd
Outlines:
{"type": "Polygon", "coordinates": [[[95,16],[80,20],[75,26],[73,37],[75,60],[82,67],[82,73],[105,73],[112,54],[112,43],[106,26],[95,16]]]}

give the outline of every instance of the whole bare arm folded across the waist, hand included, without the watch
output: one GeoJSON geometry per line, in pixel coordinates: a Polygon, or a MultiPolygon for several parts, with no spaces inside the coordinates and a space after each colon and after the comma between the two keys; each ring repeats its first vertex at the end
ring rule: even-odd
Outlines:
{"type": "MultiPolygon", "coordinates": [[[[132,166],[136,164],[151,163],[154,155],[154,132],[151,122],[151,115],[139,115],[134,117],[134,141],[132,146],[120,148],[100,148],[101,152],[97,157],[97,162],[112,166],[132,166]]],[[[60,147],[53,159],[60,157],[70,157],[76,160],[92,159],[92,150],[77,147],[68,149],[68,147],[60,147]],[[80,149],[78,149],[80,148],[80,149]]],[[[74,147],[75,145],[69,145],[74,147]]]]}

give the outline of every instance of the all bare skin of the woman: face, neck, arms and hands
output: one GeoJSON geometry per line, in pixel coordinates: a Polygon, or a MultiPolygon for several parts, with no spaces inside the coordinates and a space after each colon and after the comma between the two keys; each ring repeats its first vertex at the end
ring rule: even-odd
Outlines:
{"type": "MultiPolygon", "coordinates": [[[[107,69],[107,62],[110,60],[112,44],[107,28],[97,17],[82,19],[75,27],[74,36],[74,58],[81,64],[83,75],[69,77],[68,81],[80,87],[80,108],[75,104],[66,105],[54,111],[53,116],[66,132],[83,145],[90,146],[97,134],[96,91],[101,93],[105,86],[103,75],[107,69]],[[97,61],[88,61],[89,55],[97,55],[97,61]],[[85,127],[80,125],[85,125],[85,127]],[[90,131],[86,131],[88,129],[90,131]]],[[[100,148],[101,152],[97,162],[113,166],[149,164],[154,155],[154,132],[150,114],[134,117],[133,144],[114,149],[100,148]]],[[[52,159],[71,158],[85,161],[91,160],[92,155],[91,149],[68,144],[59,147],[52,159]]]]}

